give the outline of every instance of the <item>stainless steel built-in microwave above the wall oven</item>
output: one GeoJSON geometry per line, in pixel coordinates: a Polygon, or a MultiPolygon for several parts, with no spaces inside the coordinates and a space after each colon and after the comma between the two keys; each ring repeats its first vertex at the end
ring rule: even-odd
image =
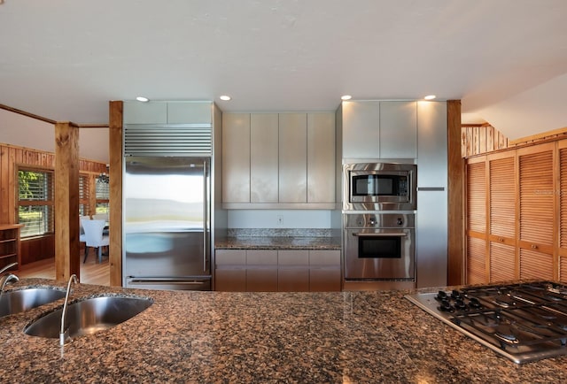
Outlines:
{"type": "Polygon", "coordinates": [[[417,165],[354,163],[343,165],[344,211],[415,211],[417,165]]]}

